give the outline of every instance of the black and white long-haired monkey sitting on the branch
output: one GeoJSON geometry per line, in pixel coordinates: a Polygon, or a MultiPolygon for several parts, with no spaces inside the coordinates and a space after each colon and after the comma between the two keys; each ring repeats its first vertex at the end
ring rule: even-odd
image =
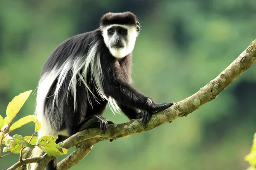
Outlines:
{"type": "MultiPolygon", "coordinates": [[[[131,53],[139,32],[133,13],[107,13],[98,29],[73,36],[55,48],[38,85],[39,138],[71,136],[96,126],[105,133],[112,123],[102,116],[108,103],[129,119],[142,118],[142,125],[153,113],[174,104],[156,104],[131,86],[131,53]]],[[[56,163],[52,160],[47,170],[55,170],[56,163]]]]}

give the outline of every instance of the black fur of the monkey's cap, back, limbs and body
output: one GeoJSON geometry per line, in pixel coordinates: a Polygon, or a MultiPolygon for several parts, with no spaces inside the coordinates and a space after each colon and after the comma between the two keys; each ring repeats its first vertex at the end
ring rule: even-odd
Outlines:
{"type": "MultiPolygon", "coordinates": [[[[118,14],[108,13],[102,17],[102,26],[116,23],[134,26],[139,25],[136,16],[130,12],[118,14]]],[[[142,117],[144,125],[151,114],[173,105],[173,102],[163,104],[151,102],[151,99],[131,86],[131,54],[128,54],[123,58],[113,57],[105,45],[101,29],[79,34],[62,42],[47,59],[41,73],[41,78],[52,71],[54,67],[60,68],[67,60],[73,62],[77,57],[86,59],[88,50],[96,42],[99,43],[98,52],[100,54],[100,62],[103,72],[104,92],[106,96],[111,96],[116,100],[119,108],[129,119],[142,117]],[[142,112],[140,112],[140,110],[142,110],[142,112]]],[[[96,92],[96,88],[93,83],[91,83],[90,89],[98,98],[98,102],[93,101],[92,105],[90,105],[87,99],[87,89],[84,87],[83,83],[78,81],[76,86],[77,108],[74,109],[74,98],[71,92],[69,92],[69,94],[67,93],[67,86],[69,85],[72,74],[73,73],[70,70],[69,76],[65,78],[65,83],[58,93],[59,103],[58,107],[55,108],[52,108],[55,106],[52,105],[52,102],[58,78],[52,83],[46,99],[44,100],[44,116],[52,126],[51,128],[56,131],[67,129],[69,135],[72,135],[79,130],[93,127],[97,122],[102,129],[102,133],[105,133],[109,122],[102,117],[102,114],[105,111],[108,101],[100,98],[99,94],[96,92]]],[[[90,72],[88,73],[88,77],[90,77],[90,72]]],[[[55,170],[55,166],[56,159],[48,164],[47,170],[55,170]]]]}

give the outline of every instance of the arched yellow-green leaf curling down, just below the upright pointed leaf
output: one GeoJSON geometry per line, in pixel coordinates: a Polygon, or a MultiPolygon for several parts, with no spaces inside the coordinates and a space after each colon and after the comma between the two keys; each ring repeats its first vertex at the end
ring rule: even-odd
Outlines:
{"type": "Polygon", "coordinates": [[[35,130],[38,132],[41,129],[41,123],[38,121],[35,115],[29,115],[19,119],[17,122],[12,124],[12,126],[10,127],[10,131],[15,130],[32,121],[35,122],[35,130]]]}

